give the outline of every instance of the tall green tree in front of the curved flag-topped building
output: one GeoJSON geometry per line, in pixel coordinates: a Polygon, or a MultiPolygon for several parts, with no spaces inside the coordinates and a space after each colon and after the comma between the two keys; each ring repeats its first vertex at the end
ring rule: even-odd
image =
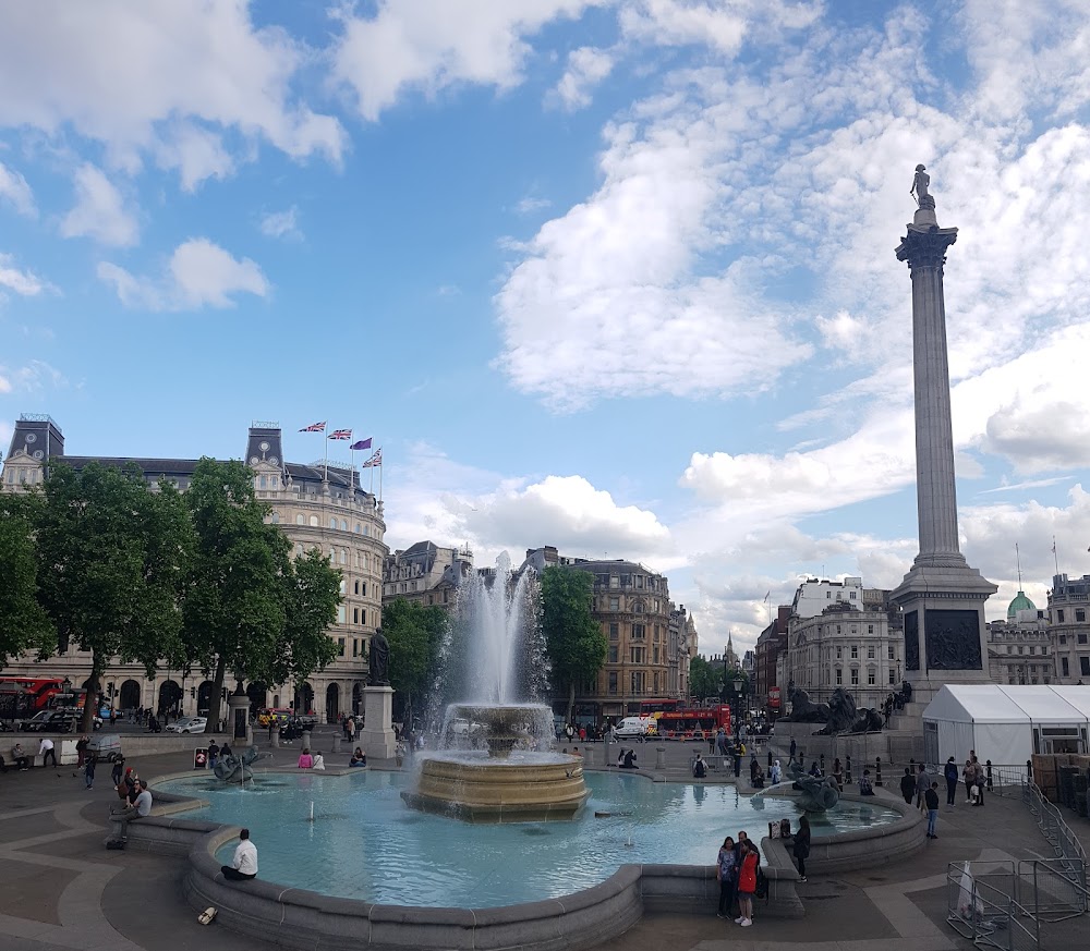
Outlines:
{"type": "Polygon", "coordinates": [[[302,680],[337,656],[340,572],[312,551],[292,562],[287,536],[266,522],[242,462],[202,459],[185,493],[196,545],[185,593],[185,660],[211,673],[206,732],[220,720],[223,681],[302,680]]]}

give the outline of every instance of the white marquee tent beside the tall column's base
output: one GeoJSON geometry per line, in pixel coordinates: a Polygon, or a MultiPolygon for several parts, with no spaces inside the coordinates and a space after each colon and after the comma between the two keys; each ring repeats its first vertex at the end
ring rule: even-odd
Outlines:
{"type": "Polygon", "coordinates": [[[1088,753],[1090,686],[944,686],[923,711],[924,758],[960,767],[976,749],[983,763],[1025,767],[1034,753],[1088,753]]]}

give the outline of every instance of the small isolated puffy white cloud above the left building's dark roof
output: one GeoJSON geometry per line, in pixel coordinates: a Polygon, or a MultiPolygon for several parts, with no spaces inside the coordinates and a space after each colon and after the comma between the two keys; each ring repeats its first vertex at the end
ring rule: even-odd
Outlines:
{"type": "Polygon", "coordinates": [[[112,284],[126,307],[148,310],[195,310],[204,306],[231,307],[240,293],[266,297],[269,283],[249,257],[241,260],[205,237],[183,242],[159,278],[134,277],[109,261],[98,277],[112,284]]]}

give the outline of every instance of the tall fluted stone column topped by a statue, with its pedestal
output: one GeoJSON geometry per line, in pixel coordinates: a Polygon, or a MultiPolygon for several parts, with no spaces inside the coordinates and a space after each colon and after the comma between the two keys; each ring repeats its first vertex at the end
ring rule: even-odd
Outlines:
{"type": "Polygon", "coordinates": [[[912,275],[920,553],[892,599],[904,612],[906,679],[920,704],[946,683],[990,682],[984,601],[996,590],[968,565],[958,546],[943,300],[943,265],[957,229],[938,227],[930,183],[924,167],[917,166],[910,194],[919,207],[896,251],[912,275]]]}

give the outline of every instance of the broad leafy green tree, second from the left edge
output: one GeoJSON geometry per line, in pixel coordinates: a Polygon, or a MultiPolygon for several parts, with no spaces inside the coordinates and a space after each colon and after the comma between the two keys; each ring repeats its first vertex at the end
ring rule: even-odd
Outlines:
{"type": "Polygon", "coordinates": [[[61,644],[92,655],[82,729],[106,667],[140,661],[150,676],[179,650],[190,522],[178,491],[153,491],[134,463],[53,464],[37,517],[40,601],[61,644]]]}

